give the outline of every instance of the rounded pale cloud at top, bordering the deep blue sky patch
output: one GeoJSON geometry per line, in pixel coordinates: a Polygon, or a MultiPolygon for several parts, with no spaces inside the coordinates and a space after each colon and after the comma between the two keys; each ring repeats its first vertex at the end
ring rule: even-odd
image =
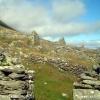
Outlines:
{"type": "Polygon", "coordinates": [[[85,12],[85,5],[79,0],[54,0],[53,2],[53,13],[57,21],[70,21],[85,12]]]}

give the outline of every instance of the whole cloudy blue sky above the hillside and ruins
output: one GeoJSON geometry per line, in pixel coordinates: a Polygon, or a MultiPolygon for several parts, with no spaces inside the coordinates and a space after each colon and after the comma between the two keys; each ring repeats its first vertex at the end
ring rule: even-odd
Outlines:
{"type": "Polygon", "coordinates": [[[44,39],[100,46],[100,0],[0,0],[0,19],[44,39]]]}

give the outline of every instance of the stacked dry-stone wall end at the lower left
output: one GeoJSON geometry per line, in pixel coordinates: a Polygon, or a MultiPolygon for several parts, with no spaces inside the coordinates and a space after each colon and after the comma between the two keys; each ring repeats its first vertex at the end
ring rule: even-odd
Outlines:
{"type": "Polygon", "coordinates": [[[34,71],[12,62],[0,53],[0,100],[35,100],[34,71]]]}

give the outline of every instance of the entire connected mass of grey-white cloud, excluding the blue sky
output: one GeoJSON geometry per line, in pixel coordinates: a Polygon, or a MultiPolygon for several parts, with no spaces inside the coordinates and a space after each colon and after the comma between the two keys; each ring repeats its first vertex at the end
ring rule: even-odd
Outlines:
{"type": "Polygon", "coordinates": [[[75,22],[86,13],[82,0],[0,0],[0,19],[12,27],[43,37],[60,37],[100,30],[100,22],[75,22]]]}

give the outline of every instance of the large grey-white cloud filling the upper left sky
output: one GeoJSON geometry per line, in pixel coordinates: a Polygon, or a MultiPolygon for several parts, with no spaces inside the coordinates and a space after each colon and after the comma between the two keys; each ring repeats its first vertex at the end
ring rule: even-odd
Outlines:
{"type": "Polygon", "coordinates": [[[27,0],[0,0],[1,19],[22,31],[41,26],[48,18],[46,13],[41,5],[33,6],[27,0]]]}

